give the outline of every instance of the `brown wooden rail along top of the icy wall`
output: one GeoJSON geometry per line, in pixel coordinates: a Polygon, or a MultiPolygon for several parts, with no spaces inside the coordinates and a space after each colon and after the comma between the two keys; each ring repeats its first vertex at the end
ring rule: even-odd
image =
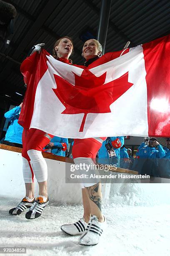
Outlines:
{"type": "MultiPolygon", "coordinates": [[[[5,144],[0,144],[0,149],[5,149],[5,150],[9,150],[9,151],[14,151],[14,152],[22,153],[22,148],[13,147],[13,146],[7,146],[5,144]]],[[[42,155],[44,156],[44,158],[47,158],[47,159],[52,159],[52,160],[62,161],[62,162],[65,162],[65,163],[74,164],[73,159],[69,158],[69,157],[56,156],[54,154],[47,153],[47,152],[42,152],[42,155]]],[[[101,166],[101,164],[98,164],[98,165],[101,166]]],[[[136,172],[136,171],[132,171],[132,170],[128,170],[128,169],[123,169],[123,168],[120,168],[120,167],[117,167],[117,169],[115,169],[114,167],[109,167],[109,171],[111,171],[111,172],[128,173],[128,174],[138,174],[138,172],[136,172]]]]}

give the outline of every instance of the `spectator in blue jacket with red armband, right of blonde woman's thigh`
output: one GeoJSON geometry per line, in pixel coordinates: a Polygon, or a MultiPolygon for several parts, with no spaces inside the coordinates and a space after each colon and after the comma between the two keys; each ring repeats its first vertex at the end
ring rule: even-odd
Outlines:
{"type": "Polygon", "coordinates": [[[98,163],[99,164],[112,164],[117,167],[120,166],[120,148],[124,144],[124,137],[107,137],[105,141],[103,141],[102,146],[99,150],[98,154],[98,163]],[[108,152],[105,145],[110,143],[112,147],[112,151],[108,152]]]}

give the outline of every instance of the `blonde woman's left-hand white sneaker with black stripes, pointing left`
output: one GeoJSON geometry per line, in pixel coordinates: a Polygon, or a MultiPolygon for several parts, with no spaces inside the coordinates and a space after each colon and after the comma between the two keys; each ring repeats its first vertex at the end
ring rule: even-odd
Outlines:
{"type": "Polygon", "coordinates": [[[62,225],[61,230],[64,231],[68,235],[80,235],[84,233],[85,229],[87,228],[87,223],[85,222],[84,218],[78,220],[75,223],[62,225]]]}

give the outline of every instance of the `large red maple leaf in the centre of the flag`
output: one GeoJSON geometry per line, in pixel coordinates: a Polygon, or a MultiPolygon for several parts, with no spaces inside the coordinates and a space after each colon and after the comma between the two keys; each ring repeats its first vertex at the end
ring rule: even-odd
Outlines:
{"type": "Polygon", "coordinates": [[[128,72],[107,84],[104,84],[106,72],[96,77],[84,69],[80,77],[74,75],[75,86],[54,74],[57,88],[52,90],[65,106],[62,114],[84,113],[80,132],[88,113],[110,113],[110,105],[133,85],[128,82],[128,72]]]}

